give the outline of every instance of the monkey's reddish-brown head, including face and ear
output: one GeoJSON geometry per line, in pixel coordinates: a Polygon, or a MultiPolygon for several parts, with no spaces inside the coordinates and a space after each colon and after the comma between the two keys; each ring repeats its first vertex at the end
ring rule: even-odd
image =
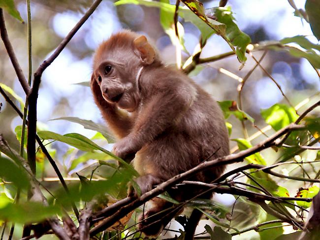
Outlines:
{"type": "Polygon", "coordinates": [[[96,50],[92,88],[97,84],[107,102],[133,112],[141,100],[141,70],[156,62],[160,60],[145,36],[128,30],[116,33],[96,50]]]}

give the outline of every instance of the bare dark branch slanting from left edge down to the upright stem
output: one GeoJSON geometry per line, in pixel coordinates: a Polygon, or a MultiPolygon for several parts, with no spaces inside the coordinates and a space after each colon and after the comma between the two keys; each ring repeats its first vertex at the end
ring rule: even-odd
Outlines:
{"type": "Polygon", "coordinates": [[[14,70],[16,71],[17,77],[19,79],[19,82],[23,88],[23,90],[25,91],[26,95],[28,96],[28,94],[30,93],[30,87],[29,84],[27,82],[27,79],[25,77],[25,75],[23,74],[23,71],[20,67],[20,64],[17,60],[17,57],[13,51],[12,45],[10,43],[9,37],[8,37],[8,33],[7,30],[5,28],[5,23],[4,23],[4,18],[3,18],[3,12],[2,9],[0,8],[0,34],[1,34],[1,38],[2,41],[4,43],[4,47],[7,50],[8,56],[12,62],[12,65],[14,67],[14,70]]]}

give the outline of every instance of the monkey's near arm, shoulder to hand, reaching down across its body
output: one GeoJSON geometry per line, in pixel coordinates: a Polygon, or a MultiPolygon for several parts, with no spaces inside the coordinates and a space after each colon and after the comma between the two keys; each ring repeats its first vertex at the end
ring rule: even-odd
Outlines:
{"type": "Polygon", "coordinates": [[[192,86],[168,86],[143,103],[135,124],[127,137],[118,142],[114,152],[119,157],[136,153],[169,126],[178,122],[196,97],[192,86]]]}

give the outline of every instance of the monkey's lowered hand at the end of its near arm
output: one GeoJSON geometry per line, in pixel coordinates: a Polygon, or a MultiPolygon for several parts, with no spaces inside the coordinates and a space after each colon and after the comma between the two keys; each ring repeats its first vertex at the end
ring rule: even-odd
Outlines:
{"type": "Polygon", "coordinates": [[[140,149],[141,147],[128,135],[114,145],[112,152],[126,162],[130,162],[140,149]]]}

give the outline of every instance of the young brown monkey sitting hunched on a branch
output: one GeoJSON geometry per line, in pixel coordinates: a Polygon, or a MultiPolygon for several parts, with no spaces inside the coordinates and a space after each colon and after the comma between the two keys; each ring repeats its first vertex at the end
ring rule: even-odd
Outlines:
{"type": "MultiPolygon", "coordinates": [[[[127,162],[133,159],[142,194],[192,169],[213,152],[215,158],[229,154],[228,133],[217,102],[181,70],[162,63],[144,35],[122,30],[97,47],[91,89],[103,119],[119,139],[113,153],[127,162]]],[[[188,180],[210,182],[224,168],[210,168],[188,180]]],[[[175,200],[185,201],[198,194],[199,187],[182,185],[168,192],[175,200]]],[[[160,198],[149,202],[152,207],[141,214],[137,228],[146,236],[158,236],[183,207],[174,208],[160,198]]],[[[195,220],[187,226],[186,239],[193,238],[201,215],[193,210],[190,222],[195,220]]]]}

